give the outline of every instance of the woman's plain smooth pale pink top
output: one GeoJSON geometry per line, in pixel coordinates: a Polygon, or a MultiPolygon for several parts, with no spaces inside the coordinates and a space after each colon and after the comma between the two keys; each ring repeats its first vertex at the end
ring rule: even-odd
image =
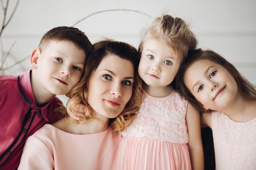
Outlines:
{"type": "Polygon", "coordinates": [[[45,124],[25,144],[18,170],[117,170],[120,134],[76,135],[45,124]]]}

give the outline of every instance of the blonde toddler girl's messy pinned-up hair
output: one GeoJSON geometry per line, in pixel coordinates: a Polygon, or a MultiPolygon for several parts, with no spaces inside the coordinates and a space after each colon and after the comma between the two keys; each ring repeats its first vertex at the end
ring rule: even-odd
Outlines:
{"type": "MultiPolygon", "coordinates": [[[[169,46],[180,63],[186,59],[189,50],[197,48],[197,38],[186,22],[170,15],[157,17],[145,30],[138,47],[139,55],[143,50],[144,42],[150,39],[157,39],[169,46]]],[[[172,85],[175,87],[175,80],[172,85]]]]}

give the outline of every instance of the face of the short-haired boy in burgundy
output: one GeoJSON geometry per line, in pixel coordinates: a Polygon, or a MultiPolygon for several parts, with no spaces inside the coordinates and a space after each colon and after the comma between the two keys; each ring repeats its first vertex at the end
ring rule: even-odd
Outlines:
{"type": "Polygon", "coordinates": [[[80,80],[85,54],[68,41],[50,41],[38,51],[35,79],[46,94],[68,93],[80,80]]]}

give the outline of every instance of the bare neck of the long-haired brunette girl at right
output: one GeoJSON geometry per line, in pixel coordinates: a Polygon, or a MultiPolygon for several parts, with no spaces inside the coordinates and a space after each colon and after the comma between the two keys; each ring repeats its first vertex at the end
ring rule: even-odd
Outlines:
{"type": "Polygon", "coordinates": [[[256,117],[256,101],[250,101],[240,96],[220,111],[234,121],[250,121],[256,117]]]}

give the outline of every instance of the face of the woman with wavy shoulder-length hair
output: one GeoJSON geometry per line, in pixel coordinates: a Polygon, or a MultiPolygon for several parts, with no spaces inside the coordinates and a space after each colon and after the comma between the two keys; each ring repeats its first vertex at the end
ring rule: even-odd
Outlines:
{"type": "Polygon", "coordinates": [[[116,118],[130,100],[134,83],[132,62],[106,55],[88,83],[88,103],[97,116],[116,118]]]}

